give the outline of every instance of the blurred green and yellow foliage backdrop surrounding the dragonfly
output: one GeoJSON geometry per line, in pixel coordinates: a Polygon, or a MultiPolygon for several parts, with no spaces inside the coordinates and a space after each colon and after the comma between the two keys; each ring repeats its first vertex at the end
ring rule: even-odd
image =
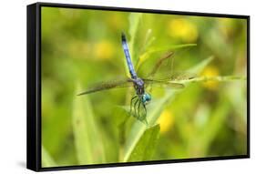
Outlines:
{"type": "MultiPolygon", "coordinates": [[[[41,22],[43,167],[247,153],[246,80],[189,84],[164,102],[155,121],[159,129],[146,128],[139,142],[131,132],[145,125],[121,107],[129,105],[132,88],[77,97],[91,84],[128,76],[121,32],[136,65],[154,48],[184,46],[174,50],[173,71],[214,56],[200,76],[246,77],[245,19],[42,7],[41,22]],[[128,149],[134,151],[126,159],[128,149]],[[143,150],[150,154],[140,158],[143,150]]],[[[139,76],[164,53],[150,54],[137,67],[139,76]]],[[[152,102],[166,93],[153,88],[152,102]]]]}

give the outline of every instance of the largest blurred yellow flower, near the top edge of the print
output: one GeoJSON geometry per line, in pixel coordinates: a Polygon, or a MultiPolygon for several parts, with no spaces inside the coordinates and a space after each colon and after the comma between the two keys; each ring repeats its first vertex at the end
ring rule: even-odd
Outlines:
{"type": "Polygon", "coordinates": [[[184,18],[170,20],[168,34],[187,43],[195,42],[199,36],[197,27],[184,18]]]}

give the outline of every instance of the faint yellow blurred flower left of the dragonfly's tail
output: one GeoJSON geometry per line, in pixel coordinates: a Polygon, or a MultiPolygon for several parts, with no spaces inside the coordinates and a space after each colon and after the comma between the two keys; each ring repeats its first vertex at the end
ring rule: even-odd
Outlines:
{"type": "Polygon", "coordinates": [[[94,56],[99,59],[108,59],[114,55],[114,46],[111,42],[105,40],[94,46],[94,56]]]}

